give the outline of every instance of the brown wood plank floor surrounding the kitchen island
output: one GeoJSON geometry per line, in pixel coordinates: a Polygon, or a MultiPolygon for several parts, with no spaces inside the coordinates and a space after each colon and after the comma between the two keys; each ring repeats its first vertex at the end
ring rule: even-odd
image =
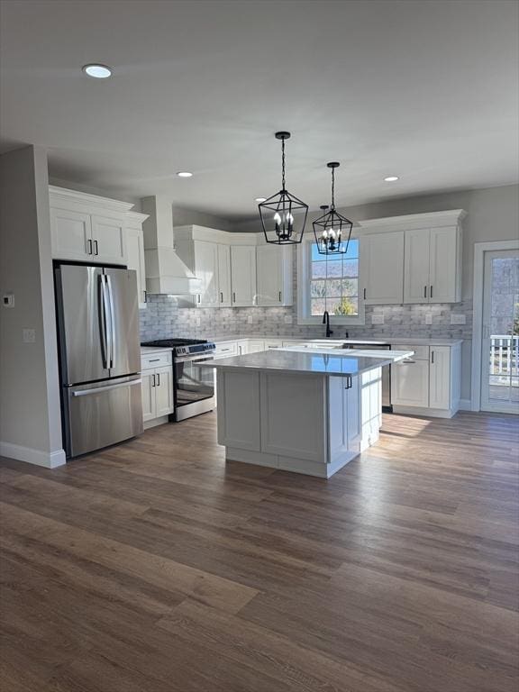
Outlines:
{"type": "Polygon", "coordinates": [[[332,479],[215,417],[3,460],[3,692],[516,692],[518,421],[386,416],[332,479]]]}

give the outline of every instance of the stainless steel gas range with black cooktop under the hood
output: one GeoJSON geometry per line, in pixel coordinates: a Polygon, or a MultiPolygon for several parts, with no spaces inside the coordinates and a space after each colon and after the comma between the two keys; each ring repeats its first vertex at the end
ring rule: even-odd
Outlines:
{"type": "Polygon", "coordinates": [[[214,409],[214,370],[200,368],[201,363],[214,360],[214,343],[196,339],[159,339],[141,345],[171,347],[175,421],[184,421],[214,409]]]}

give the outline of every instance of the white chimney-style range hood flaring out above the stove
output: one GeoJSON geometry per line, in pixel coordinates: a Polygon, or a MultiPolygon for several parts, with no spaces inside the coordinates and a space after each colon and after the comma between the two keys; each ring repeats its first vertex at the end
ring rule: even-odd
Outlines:
{"type": "Polygon", "coordinates": [[[201,292],[202,282],[178,257],[173,236],[173,209],[164,196],[141,200],[148,219],[142,224],[146,290],[150,294],[193,296],[201,292]]]}

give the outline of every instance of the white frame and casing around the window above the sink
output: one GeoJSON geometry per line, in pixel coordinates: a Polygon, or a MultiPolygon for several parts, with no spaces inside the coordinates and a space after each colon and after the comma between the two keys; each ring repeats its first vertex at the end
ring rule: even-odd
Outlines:
{"type": "MultiPolygon", "coordinates": [[[[360,290],[361,286],[361,276],[362,276],[362,266],[363,262],[361,259],[362,253],[362,243],[357,234],[351,233],[351,240],[359,241],[359,296],[358,296],[358,310],[359,314],[356,315],[337,315],[330,314],[330,323],[338,325],[353,325],[353,324],[365,324],[366,314],[364,310],[364,298],[363,292],[360,290]]],[[[323,317],[320,315],[310,314],[311,310],[311,299],[310,299],[310,281],[312,278],[312,243],[315,242],[314,236],[306,235],[303,241],[297,247],[297,323],[298,324],[321,324],[323,323],[323,317]]]]}

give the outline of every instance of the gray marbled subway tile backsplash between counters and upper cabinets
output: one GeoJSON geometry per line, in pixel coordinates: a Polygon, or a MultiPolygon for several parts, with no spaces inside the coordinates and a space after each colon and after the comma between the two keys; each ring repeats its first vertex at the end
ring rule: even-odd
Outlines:
{"type": "MultiPolygon", "coordinates": [[[[140,311],[141,341],[171,336],[211,338],[225,334],[265,334],[320,338],[323,325],[297,324],[296,305],[292,307],[195,308],[178,305],[178,298],[148,296],[140,311]]],[[[348,331],[351,339],[401,337],[471,339],[472,301],[439,305],[379,305],[366,307],[364,326],[332,326],[333,337],[348,331]],[[451,324],[451,314],[463,314],[465,324],[451,324]],[[430,315],[431,324],[425,323],[430,315]],[[375,322],[372,318],[375,316],[375,322]],[[383,316],[384,323],[380,321],[383,316]]]]}

